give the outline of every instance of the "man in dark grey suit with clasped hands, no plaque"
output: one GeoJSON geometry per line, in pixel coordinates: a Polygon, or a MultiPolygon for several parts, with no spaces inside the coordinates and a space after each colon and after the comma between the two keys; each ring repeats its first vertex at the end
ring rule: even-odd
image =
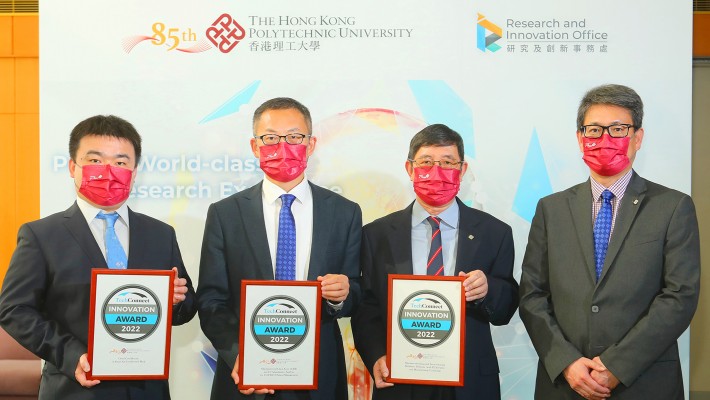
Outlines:
{"type": "Polygon", "coordinates": [[[520,300],[536,399],[684,397],[677,339],[698,302],[698,223],[690,197],[632,170],[642,120],[633,89],[590,90],[577,141],[591,178],[537,205],[520,300]]]}

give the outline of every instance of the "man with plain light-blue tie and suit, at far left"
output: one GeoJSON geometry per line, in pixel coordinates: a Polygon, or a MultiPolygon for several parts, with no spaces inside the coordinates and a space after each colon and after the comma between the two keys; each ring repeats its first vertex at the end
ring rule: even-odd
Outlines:
{"type": "Polygon", "coordinates": [[[86,379],[92,268],[172,268],[172,324],[196,312],[175,231],[125,204],[141,156],[140,135],[121,118],[94,116],[72,130],[69,155],[77,200],[20,228],[0,293],[0,325],[46,361],[40,399],[169,399],[164,380],[86,379]],[[113,241],[104,235],[106,218],[115,224],[113,241]]]}

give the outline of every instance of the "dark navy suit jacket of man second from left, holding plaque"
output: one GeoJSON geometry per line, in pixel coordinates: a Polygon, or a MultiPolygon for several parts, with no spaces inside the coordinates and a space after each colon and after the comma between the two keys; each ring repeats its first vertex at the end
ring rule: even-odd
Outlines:
{"type": "MultiPolygon", "coordinates": [[[[274,271],[264,226],[259,183],[210,206],[202,241],[197,289],[202,331],[218,352],[212,399],[242,396],[230,374],[239,352],[239,311],[243,279],[273,280],[274,271]]],[[[358,265],[362,213],[360,207],[314,184],[313,244],[308,280],[325,274],[350,278],[350,293],[340,312],[322,304],[318,390],[311,399],[347,398],[345,355],[337,318],[349,316],[360,298],[358,265]]],[[[288,391],[276,396],[288,398],[288,391]]]]}

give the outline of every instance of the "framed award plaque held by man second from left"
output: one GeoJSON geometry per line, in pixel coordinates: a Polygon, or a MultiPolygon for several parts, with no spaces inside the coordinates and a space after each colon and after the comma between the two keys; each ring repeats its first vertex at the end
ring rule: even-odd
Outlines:
{"type": "Polygon", "coordinates": [[[239,389],[317,389],[320,282],[242,281],[239,389]]]}

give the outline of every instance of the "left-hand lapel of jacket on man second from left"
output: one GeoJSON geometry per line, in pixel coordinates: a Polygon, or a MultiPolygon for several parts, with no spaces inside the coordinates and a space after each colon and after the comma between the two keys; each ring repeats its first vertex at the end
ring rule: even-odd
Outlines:
{"type": "MultiPolygon", "coordinates": [[[[258,273],[262,279],[273,280],[274,268],[269,252],[269,240],[266,238],[264,226],[264,205],[261,202],[261,185],[255,185],[235,197],[237,210],[244,221],[244,228],[249,232],[245,235],[249,248],[257,260],[258,273]]],[[[238,244],[237,244],[238,245],[238,244]]]]}

